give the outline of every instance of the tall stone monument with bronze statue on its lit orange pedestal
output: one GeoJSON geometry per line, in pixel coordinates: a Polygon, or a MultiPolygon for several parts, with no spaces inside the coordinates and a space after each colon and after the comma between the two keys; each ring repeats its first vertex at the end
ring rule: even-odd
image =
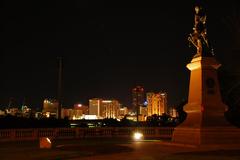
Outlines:
{"type": "Polygon", "coordinates": [[[221,64],[216,60],[207,38],[207,16],[201,6],[195,7],[193,33],[188,37],[196,54],[187,64],[191,71],[186,120],[175,128],[173,142],[192,145],[240,144],[240,129],[225,120],[217,77],[221,64]]]}

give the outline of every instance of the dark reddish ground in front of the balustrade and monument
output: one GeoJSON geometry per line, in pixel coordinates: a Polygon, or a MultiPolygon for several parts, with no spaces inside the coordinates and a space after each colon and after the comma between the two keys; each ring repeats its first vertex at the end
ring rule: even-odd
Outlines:
{"type": "Polygon", "coordinates": [[[38,141],[1,142],[1,160],[239,160],[240,148],[173,145],[160,140],[82,139],[53,141],[40,149],[38,141]]]}

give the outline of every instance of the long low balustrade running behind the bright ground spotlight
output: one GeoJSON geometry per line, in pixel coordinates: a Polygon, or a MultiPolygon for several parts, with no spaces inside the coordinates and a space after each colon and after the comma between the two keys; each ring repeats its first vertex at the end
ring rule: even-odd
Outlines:
{"type": "Polygon", "coordinates": [[[53,139],[74,139],[90,137],[130,137],[139,131],[144,137],[171,138],[174,128],[166,127],[106,127],[106,128],[34,128],[2,129],[0,141],[37,140],[40,137],[53,139]]]}

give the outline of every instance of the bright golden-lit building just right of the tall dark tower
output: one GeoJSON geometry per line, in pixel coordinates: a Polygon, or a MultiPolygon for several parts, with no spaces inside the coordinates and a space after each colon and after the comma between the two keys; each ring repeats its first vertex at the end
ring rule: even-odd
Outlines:
{"type": "Polygon", "coordinates": [[[167,94],[165,92],[156,94],[153,92],[147,93],[147,109],[148,116],[167,113],[167,94]]]}

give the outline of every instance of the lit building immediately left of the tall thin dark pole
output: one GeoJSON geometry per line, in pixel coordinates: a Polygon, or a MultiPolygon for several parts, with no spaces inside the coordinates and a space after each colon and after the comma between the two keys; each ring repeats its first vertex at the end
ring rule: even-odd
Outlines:
{"type": "Polygon", "coordinates": [[[55,99],[44,99],[43,101],[43,114],[46,117],[56,117],[58,110],[58,101],[55,99]]]}

